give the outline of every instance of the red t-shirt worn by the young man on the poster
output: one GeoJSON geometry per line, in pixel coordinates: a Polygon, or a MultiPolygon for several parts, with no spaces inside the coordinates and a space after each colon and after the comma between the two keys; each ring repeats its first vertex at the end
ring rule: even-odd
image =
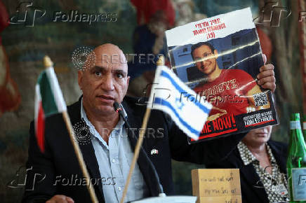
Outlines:
{"type": "Polygon", "coordinates": [[[222,69],[218,78],[210,83],[198,85],[194,91],[205,96],[207,101],[213,104],[214,108],[209,116],[220,113],[222,117],[230,116],[228,113],[246,113],[246,107],[250,106],[246,94],[255,85],[255,80],[246,71],[222,69]]]}

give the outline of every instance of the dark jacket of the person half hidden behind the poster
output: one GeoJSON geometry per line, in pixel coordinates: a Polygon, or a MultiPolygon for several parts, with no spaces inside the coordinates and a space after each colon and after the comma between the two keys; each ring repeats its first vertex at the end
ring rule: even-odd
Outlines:
{"type": "MultiPolygon", "coordinates": [[[[268,141],[277,165],[282,174],[286,174],[287,146],[278,141],[268,141]]],[[[211,169],[240,169],[241,195],[244,203],[269,203],[265,188],[252,164],[244,165],[238,148],[222,162],[214,162],[207,166],[211,169]]]]}

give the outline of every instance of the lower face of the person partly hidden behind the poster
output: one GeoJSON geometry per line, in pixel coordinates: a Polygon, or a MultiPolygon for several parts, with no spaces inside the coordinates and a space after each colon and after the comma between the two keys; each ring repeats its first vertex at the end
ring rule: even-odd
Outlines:
{"type": "Polygon", "coordinates": [[[246,145],[261,145],[269,141],[271,137],[272,125],[260,127],[255,130],[251,130],[246,134],[243,141],[246,145]]]}

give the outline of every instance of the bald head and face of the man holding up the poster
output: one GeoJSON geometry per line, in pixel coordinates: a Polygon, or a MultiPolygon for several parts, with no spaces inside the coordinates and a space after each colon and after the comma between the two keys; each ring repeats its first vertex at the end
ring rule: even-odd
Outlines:
{"type": "Polygon", "coordinates": [[[128,90],[128,66],[123,52],[115,45],[95,48],[95,64],[79,71],[79,87],[89,111],[114,113],[114,102],[121,103],[128,90]]]}

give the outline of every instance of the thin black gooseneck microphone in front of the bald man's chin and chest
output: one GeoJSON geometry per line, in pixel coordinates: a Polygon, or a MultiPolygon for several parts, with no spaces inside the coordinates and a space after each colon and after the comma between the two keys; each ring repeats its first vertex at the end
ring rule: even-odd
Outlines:
{"type": "MultiPolygon", "coordinates": [[[[126,120],[126,118],[124,116],[123,108],[122,108],[121,104],[119,104],[118,102],[114,102],[113,106],[114,106],[114,111],[119,113],[119,116],[121,116],[121,118],[124,119],[124,122],[128,126],[128,130],[131,130],[131,125],[128,123],[128,120],[126,120]]],[[[133,130],[131,130],[131,131],[133,133],[133,137],[135,137],[134,131],[133,130]]],[[[135,137],[135,138],[137,138],[137,137],[135,137]]],[[[149,165],[154,172],[155,179],[157,180],[157,183],[159,183],[159,195],[164,194],[164,189],[163,189],[163,186],[161,186],[161,183],[159,181],[159,174],[157,174],[157,169],[155,169],[152,161],[149,159],[149,157],[147,156],[147,153],[145,153],[145,150],[142,148],[142,146],[140,148],[140,151],[142,151],[142,153],[145,155],[145,158],[147,159],[147,162],[149,162],[149,165]]]]}

